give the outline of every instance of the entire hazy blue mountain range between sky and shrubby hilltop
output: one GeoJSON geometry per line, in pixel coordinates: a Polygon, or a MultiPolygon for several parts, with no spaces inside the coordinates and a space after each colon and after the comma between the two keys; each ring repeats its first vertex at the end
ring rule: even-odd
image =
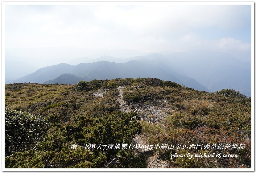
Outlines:
{"type": "Polygon", "coordinates": [[[126,59],[112,56],[96,59],[82,57],[70,63],[79,64],[47,66],[8,83],[76,84],[81,80],[155,77],[196,90],[214,92],[233,88],[251,96],[251,63],[222,52],[189,51],[166,55],[152,53],[126,59]]]}

